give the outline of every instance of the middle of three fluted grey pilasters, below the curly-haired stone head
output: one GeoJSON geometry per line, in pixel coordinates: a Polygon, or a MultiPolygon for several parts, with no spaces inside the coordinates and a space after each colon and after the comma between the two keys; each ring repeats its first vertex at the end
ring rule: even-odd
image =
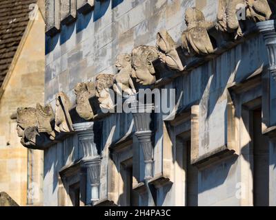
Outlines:
{"type": "Polygon", "coordinates": [[[135,122],[135,135],[137,136],[139,147],[144,154],[145,163],[145,180],[153,177],[153,147],[152,147],[152,131],[150,131],[152,103],[141,104],[137,100],[132,100],[131,112],[135,122]]]}

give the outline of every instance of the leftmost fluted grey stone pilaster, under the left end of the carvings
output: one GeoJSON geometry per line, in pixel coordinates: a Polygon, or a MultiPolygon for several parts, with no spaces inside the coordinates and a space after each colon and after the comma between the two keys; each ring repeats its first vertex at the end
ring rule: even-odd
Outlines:
{"type": "MultiPolygon", "coordinates": [[[[94,122],[73,124],[82,152],[81,167],[86,175],[86,188],[91,192],[90,201],[99,200],[101,156],[95,143],[94,122]]],[[[84,199],[86,202],[87,199],[84,199]]]]}

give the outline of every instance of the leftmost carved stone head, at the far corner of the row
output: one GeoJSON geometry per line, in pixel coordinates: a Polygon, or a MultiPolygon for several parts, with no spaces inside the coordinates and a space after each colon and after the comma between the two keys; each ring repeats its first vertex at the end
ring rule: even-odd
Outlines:
{"type": "Polygon", "coordinates": [[[30,126],[37,126],[37,109],[17,109],[17,135],[23,137],[24,130],[30,126]]]}

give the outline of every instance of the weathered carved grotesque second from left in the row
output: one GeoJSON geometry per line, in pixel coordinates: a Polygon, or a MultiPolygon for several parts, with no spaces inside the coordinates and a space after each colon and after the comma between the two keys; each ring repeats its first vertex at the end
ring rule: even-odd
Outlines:
{"type": "Polygon", "coordinates": [[[55,118],[55,113],[50,104],[45,107],[37,103],[37,130],[39,133],[48,133],[50,140],[55,139],[55,131],[52,128],[51,121],[55,118]]]}

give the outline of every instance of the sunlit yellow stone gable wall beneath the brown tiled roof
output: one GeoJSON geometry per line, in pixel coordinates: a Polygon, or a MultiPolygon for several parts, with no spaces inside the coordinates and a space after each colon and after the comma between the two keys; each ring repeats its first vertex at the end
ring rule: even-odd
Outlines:
{"type": "MultiPolygon", "coordinates": [[[[20,206],[27,204],[28,149],[23,148],[17,137],[16,119],[10,117],[19,106],[30,107],[36,102],[43,103],[44,25],[39,13],[38,20],[27,28],[26,39],[17,52],[19,56],[14,60],[0,100],[0,191],[7,192],[20,206]]],[[[32,174],[39,173],[37,179],[41,179],[43,152],[34,152],[34,158],[37,159],[38,166],[33,168],[32,174]]],[[[39,190],[41,193],[41,188],[39,190]]]]}

